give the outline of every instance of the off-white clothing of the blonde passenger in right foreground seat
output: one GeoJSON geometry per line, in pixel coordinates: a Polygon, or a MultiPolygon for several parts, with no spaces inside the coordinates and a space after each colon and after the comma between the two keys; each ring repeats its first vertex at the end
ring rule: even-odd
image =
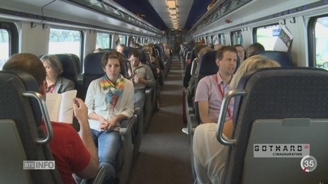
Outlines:
{"type": "Polygon", "coordinates": [[[194,165],[198,183],[221,183],[227,164],[229,147],[215,136],[216,123],[196,127],[193,140],[194,165]]]}

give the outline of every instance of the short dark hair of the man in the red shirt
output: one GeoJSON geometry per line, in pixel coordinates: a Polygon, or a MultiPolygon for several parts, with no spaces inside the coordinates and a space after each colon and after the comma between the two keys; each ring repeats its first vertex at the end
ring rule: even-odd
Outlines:
{"type": "Polygon", "coordinates": [[[3,70],[17,70],[31,74],[40,86],[46,80],[46,69],[34,54],[20,53],[12,55],[5,63],[3,70]]]}

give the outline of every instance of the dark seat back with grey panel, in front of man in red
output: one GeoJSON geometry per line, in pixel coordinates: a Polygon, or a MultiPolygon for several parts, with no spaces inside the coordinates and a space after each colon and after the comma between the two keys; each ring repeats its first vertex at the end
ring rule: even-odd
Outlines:
{"type": "MultiPolygon", "coordinates": [[[[25,72],[0,72],[1,183],[63,183],[57,169],[24,170],[24,160],[53,160],[48,143],[53,131],[36,80],[25,72]],[[47,136],[40,127],[45,117],[47,136]],[[46,137],[46,138],[45,138],[46,137]]],[[[101,183],[104,169],[84,183],[101,183]]]]}

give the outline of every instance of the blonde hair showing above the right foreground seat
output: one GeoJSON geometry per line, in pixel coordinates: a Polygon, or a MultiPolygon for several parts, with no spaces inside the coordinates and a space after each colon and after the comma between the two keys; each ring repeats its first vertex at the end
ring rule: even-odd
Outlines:
{"type": "Polygon", "coordinates": [[[260,55],[252,56],[241,63],[236,74],[230,82],[230,90],[236,89],[240,78],[248,72],[254,71],[257,68],[279,67],[280,64],[260,55]]]}

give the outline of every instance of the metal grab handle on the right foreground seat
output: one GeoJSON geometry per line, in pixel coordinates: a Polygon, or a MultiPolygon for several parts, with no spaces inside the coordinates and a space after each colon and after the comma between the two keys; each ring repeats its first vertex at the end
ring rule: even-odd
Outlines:
{"type": "Polygon", "coordinates": [[[231,140],[228,139],[226,140],[223,136],[223,125],[224,122],[226,121],[226,116],[227,116],[227,110],[229,107],[229,101],[231,98],[236,97],[236,96],[245,96],[246,90],[244,89],[236,89],[236,90],[231,90],[229,93],[223,97],[222,104],[221,104],[221,110],[220,110],[220,115],[219,119],[217,122],[217,128],[216,128],[216,139],[222,144],[226,146],[231,146],[236,143],[236,140],[231,140]]]}

